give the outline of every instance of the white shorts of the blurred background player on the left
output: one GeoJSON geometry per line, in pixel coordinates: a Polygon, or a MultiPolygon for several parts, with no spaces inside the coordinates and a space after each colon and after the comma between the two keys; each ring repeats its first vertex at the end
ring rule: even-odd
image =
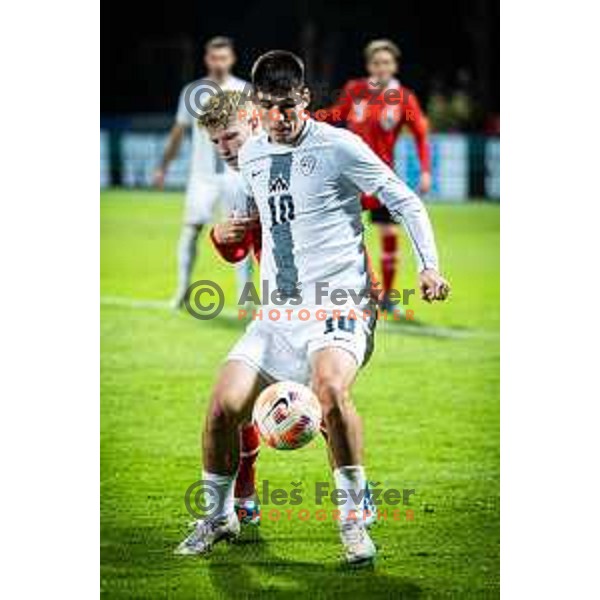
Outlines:
{"type": "Polygon", "coordinates": [[[215,176],[192,175],[185,195],[184,222],[186,225],[204,225],[215,220],[217,201],[224,215],[245,204],[246,192],[237,173],[215,176]]]}

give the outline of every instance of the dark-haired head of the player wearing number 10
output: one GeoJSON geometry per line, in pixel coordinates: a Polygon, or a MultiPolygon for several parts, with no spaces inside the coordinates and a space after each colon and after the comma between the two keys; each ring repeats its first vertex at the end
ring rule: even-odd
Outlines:
{"type": "Polygon", "coordinates": [[[252,67],[256,103],[264,111],[261,119],[272,141],[291,144],[302,131],[310,101],[304,80],[304,63],[292,52],[272,50],[252,67]]]}

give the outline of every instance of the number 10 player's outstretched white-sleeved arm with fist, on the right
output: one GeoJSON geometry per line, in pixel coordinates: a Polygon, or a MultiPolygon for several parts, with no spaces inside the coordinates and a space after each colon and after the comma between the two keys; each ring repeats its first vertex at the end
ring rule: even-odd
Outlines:
{"type": "Polygon", "coordinates": [[[338,145],[341,174],[366,194],[375,194],[392,218],[402,223],[417,258],[421,296],[445,300],[450,285],[440,274],[435,236],[421,199],[358,136],[344,132],[338,145]]]}

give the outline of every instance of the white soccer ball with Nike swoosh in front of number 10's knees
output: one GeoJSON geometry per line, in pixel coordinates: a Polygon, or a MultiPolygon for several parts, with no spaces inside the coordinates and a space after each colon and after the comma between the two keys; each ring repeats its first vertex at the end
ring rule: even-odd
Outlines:
{"type": "Polygon", "coordinates": [[[306,386],[281,381],[263,390],[252,418],[262,439],[277,450],[302,448],[321,426],[321,406],[306,386]]]}

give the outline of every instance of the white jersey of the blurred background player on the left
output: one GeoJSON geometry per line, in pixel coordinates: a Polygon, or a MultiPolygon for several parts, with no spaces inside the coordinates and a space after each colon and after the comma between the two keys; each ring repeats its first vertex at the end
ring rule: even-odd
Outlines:
{"type": "MultiPolygon", "coordinates": [[[[198,178],[202,180],[211,180],[215,176],[221,175],[229,170],[229,167],[227,167],[217,155],[206,129],[198,127],[197,120],[202,112],[202,108],[197,107],[196,102],[208,101],[210,93],[213,93],[212,86],[209,84],[202,86],[200,81],[201,80],[193,81],[183,88],[179,95],[177,115],[175,116],[175,122],[178,125],[192,129],[190,182],[193,179],[198,178]],[[202,92],[203,87],[205,87],[207,91],[202,92]],[[197,97],[198,95],[199,98],[197,97]]],[[[238,79],[237,77],[230,75],[229,78],[224,83],[219,84],[218,87],[223,91],[243,91],[249,90],[249,86],[250,84],[243,79],[238,79]]]]}

